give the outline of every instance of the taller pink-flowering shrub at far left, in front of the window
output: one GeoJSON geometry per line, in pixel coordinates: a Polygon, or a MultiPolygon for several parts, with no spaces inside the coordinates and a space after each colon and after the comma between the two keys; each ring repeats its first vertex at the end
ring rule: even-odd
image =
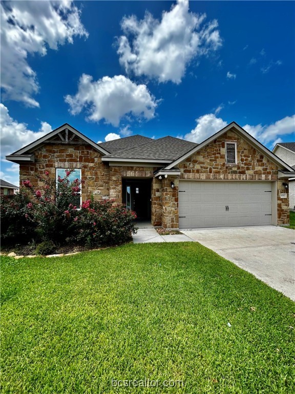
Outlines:
{"type": "Polygon", "coordinates": [[[14,199],[2,199],[1,238],[4,243],[25,244],[31,239],[60,242],[71,237],[71,223],[77,207],[71,201],[80,192],[80,182],[69,181],[73,170],[65,170],[65,178],[58,178],[58,187],[49,172],[37,175],[42,188],[23,181],[14,199]]]}

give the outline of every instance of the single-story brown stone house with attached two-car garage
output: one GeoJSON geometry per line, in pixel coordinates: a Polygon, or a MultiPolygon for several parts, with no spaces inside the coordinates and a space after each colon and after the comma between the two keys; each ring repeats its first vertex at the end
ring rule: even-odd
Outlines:
{"type": "Polygon", "coordinates": [[[114,199],[165,228],[289,223],[285,185],[295,172],[235,122],[201,144],[133,135],[96,144],[69,124],[6,159],[20,184],[71,168],[85,180],[81,200],[114,199]]]}

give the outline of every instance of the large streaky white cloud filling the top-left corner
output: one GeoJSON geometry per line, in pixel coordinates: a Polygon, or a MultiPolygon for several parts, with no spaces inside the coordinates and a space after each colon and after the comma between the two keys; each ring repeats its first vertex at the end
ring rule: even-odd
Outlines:
{"type": "Polygon", "coordinates": [[[1,88],[5,99],[39,107],[33,98],[39,90],[29,54],[46,55],[47,48],[73,43],[87,36],[80,11],[70,0],[1,2],[1,88]]]}

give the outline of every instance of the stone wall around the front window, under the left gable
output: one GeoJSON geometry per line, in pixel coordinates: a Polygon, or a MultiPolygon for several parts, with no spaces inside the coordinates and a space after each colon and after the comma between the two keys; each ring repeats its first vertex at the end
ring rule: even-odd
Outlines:
{"type": "Polygon", "coordinates": [[[34,151],[35,162],[22,164],[19,167],[20,186],[22,181],[29,180],[34,186],[42,184],[36,179],[35,173],[41,175],[45,171],[52,179],[56,178],[56,168],[81,169],[82,201],[90,198],[91,194],[99,200],[109,197],[109,165],[101,161],[100,153],[91,145],[53,145],[48,144],[34,151]]]}

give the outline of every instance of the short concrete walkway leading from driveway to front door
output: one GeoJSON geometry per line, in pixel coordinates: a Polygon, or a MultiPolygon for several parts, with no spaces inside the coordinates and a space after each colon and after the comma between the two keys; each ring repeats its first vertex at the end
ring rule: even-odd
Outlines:
{"type": "Polygon", "coordinates": [[[136,227],[139,227],[139,229],[135,235],[132,235],[135,244],[146,244],[149,242],[194,242],[194,240],[184,234],[160,235],[151,223],[136,223],[136,227]]]}

